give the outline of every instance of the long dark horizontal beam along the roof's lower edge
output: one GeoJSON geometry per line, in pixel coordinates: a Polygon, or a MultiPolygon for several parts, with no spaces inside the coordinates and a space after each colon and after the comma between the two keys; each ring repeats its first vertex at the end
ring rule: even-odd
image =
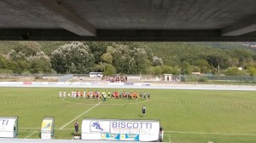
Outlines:
{"type": "Polygon", "coordinates": [[[222,37],[219,30],[139,31],[97,30],[96,37],[80,37],[65,29],[0,29],[0,40],[11,41],[136,41],[136,42],[255,42],[256,31],[222,37]]]}

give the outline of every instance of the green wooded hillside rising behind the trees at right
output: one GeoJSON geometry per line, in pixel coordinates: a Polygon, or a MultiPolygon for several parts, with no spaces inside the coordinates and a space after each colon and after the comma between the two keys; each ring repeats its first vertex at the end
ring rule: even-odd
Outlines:
{"type": "MultiPolygon", "coordinates": [[[[207,59],[207,56],[218,55],[223,58],[237,58],[237,53],[256,51],[241,43],[146,43],[154,55],[162,58],[166,66],[177,66],[183,61],[193,64],[195,60],[207,59]],[[234,54],[236,53],[236,54],[234,54]]],[[[246,58],[245,58],[246,59],[246,58]]]]}

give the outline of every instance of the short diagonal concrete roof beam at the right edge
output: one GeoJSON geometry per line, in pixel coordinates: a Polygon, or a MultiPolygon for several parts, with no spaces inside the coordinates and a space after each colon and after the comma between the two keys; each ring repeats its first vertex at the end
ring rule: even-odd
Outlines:
{"type": "Polygon", "coordinates": [[[256,31],[255,15],[222,30],[223,37],[236,37],[249,32],[256,31]]]}

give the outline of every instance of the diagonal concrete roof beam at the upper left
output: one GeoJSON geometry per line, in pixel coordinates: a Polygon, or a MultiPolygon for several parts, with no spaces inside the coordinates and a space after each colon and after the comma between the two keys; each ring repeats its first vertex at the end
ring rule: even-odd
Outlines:
{"type": "Polygon", "coordinates": [[[71,31],[81,37],[96,36],[96,29],[93,26],[62,7],[61,2],[55,0],[38,0],[38,3],[41,3],[45,8],[63,17],[65,20],[61,21],[59,25],[67,31],[71,31]]]}

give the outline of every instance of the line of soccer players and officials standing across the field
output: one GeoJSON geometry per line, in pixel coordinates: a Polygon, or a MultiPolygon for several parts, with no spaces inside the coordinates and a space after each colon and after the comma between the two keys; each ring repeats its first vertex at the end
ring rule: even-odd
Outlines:
{"type": "Polygon", "coordinates": [[[66,93],[65,90],[60,91],[59,92],[60,98],[66,98],[66,96],[68,98],[87,98],[87,99],[100,99],[100,98],[108,98],[108,99],[141,99],[141,100],[150,100],[150,93],[143,93],[140,92],[139,94],[137,94],[136,91],[131,92],[131,91],[108,91],[108,93],[106,91],[92,91],[89,90],[88,92],[86,92],[85,90],[83,91],[76,91],[73,90],[71,93],[66,93]]]}

